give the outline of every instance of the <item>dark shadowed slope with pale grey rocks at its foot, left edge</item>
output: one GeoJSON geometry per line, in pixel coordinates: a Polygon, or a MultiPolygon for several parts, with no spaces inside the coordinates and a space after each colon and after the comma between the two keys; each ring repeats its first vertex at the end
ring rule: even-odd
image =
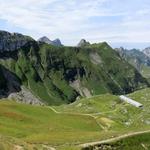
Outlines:
{"type": "Polygon", "coordinates": [[[43,105],[32,92],[21,86],[20,79],[11,71],[0,65],[0,99],[16,100],[26,104],[43,105]]]}

